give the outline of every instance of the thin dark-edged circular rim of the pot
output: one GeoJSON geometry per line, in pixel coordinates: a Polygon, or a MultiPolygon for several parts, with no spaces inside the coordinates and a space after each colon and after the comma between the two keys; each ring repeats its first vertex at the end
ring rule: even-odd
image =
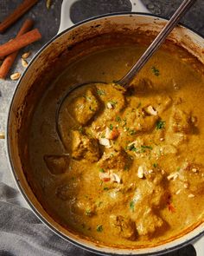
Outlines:
{"type": "MultiPolygon", "coordinates": [[[[94,249],[93,247],[89,247],[88,245],[84,245],[82,244],[81,242],[78,242],[76,240],[72,240],[70,239],[67,235],[59,232],[56,227],[52,226],[48,220],[46,220],[42,215],[41,213],[35,208],[33,202],[31,200],[29,200],[29,197],[28,195],[24,192],[24,189],[22,187],[22,184],[21,182],[19,181],[18,177],[17,177],[17,174],[16,174],[16,171],[15,171],[15,167],[13,165],[13,162],[11,160],[11,154],[10,154],[10,136],[9,136],[9,124],[10,124],[10,115],[11,115],[11,108],[13,106],[13,102],[15,101],[15,98],[16,98],[16,93],[17,93],[17,90],[18,88],[20,87],[21,85],[21,82],[22,82],[22,79],[24,77],[24,75],[26,74],[26,72],[30,69],[30,67],[32,66],[33,62],[35,62],[35,59],[41,55],[41,52],[46,49],[48,47],[48,45],[50,43],[53,43],[55,39],[57,39],[58,37],[62,36],[63,34],[67,33],[69,30],[73,30],[74,28],[76,27],[79,27],[81,24],[84,24],[84,23],[88,23],[88,22],[91,22],[91,21],[97,21],[99,19],[103,19],[105,17],[111,17],[111,16],[152,16],[152,17],[155,17],[155,18],[158,18],[158,19],[161,19],[163,21],[168,21],[169,18],[166,18],[166,17],[163,17],[163,16],[159,16],[159,15],[154,15],[154,14],[151,14],[151,13],[141,13],[141,12],[129,12],[129,11],[126,11],[126,12],[117,12],[117,13],[111,13],[111,14],[105,14],[105,15],[99,15],[99,16],[93,16],[91,18],[88,18],[84,21],[81,21],[80,23],[76,23],[74,24],[72,27],[69,27],[67,28],[66,30],[63,30],[61,31],[61,33],[55,35],[54,37],[52,37],[48,43],[45,43],[41,49],[39,49],[36,53],[35,53],[35,56],[32,58],[32,60],[29,62],[29,66],[28,68],[22,73],[19,81],[16,83],[16,89],[14,90],[14,93],[12,95],[12,98],[11,98],[11,101],[10,101],[10,107],[9,107],[9,113],[8,113],[8,117],[7,117],[7,121],[6,121],[6,152],[7,152],[7,158],[8,158],[8,161],[9,161],[9,166],[10,166],[10,170],[11,170],[11,173],[13,174],[13,178],[16,182],[16,186],[18,187],[20,193],[22,194],[22,197],[27,201],[29,207],[32,209],[33,213],[35,213],[36,217],[41,220],[41,222],[43,224],[45,224],[46,226],[48,226],[48,228],[56,233],[58,236],[60,236],[63,240],[67,240],[68,242],[70,242],[71,244],[73,244],[73,246],[78,246],[80,247],[81,249],[85,249],[86,251],[88,252],[91,252],[91,253],[96,253],[96,254],[99,254],[99,255],[116,255],[116,253],[108,253],[108,252],[101,252],[97,249],[94,249]]],[[[182,26],[184,29],[187,29],[187,30],[190,30],[191,32],[193,32],[195,35],[197,36],[200,36],[202,39],[204,39],[204,36],[201,35],[200,32],[197,32],[195,31],[194,29],[192,28],[189,28],[188,25],[184,25],[182,23],[178,23],[178,25],[182,26]]],[[[198,227],[198,226],[197,226],[198,227]]],[[[194,229],[196,229],[197,227],[195,227],[194,229]]],[[[188,234],[192,233],[194,231],[194,229],[189,232],[188,234]]],[[[185,236],[187,234],[184,234],[183,236],[185,236]]],[[[198,240],[199,238],[201,238],[201,236],[204,235],[204,230],[202,230],[200,233],[197,233],[196,235],[194,235],[193,237],[191,238],[186,238],[184,241],[182,241],[182,243],[179,243],[179,244],[176,244],[175,246],[172,245],[168,248],[163,248],[163,249],[157,249],[156,250],[156,246],[155,247],[151,247],[151,248],[155,248],[155,251],[154,252],[147,252],[147,253],[137,253],[137,250],[139,249],[125,249],[126,251],[130,251],[130,253],[128,254],[123,254],[124,256],[125,255],[137,255],[137,256],[143,256],[143,255],[161,255],[163,253],[169,253],[169,252],[172,252],[172,251],[175,251],[176,249],[180,249],[182,248],[183,246],[186,246],[188,244],[190,244],[191,242],[193,242],[194,240],[198,240]],[[134,252],[135,251],[135,252],[134,252]]],[[[166,244],[169,244],[169,243],[172,243],[176,240],[178,240],[179,238],[175,239],[175,240],[172,240],[170,242],[167,242],[166,244]]],[[[166,244],[163,244],[162,246],[165,246],[166,244]]],[[[101,248],[101,247],[99,247],[101,248]]],[[[115,249],[115,248],[114,248],[115,249]]],[[[143,248],[144,250],[145,248],[143,248]]],[[[146,248],[148,250],[148,248],[146,248]]],[[[112,247],[110,247],[110,250],[112,250],[112,247]]],[[[117,250],[121,250],[120,248],[118,248],[117,250]]],[[[122,249],[123,250],[123,249],[122,249]]]]}

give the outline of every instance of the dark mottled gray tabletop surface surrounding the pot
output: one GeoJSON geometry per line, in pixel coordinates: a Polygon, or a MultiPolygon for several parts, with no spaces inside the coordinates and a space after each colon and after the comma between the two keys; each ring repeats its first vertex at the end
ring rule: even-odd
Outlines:
{"type": "MultiPolygon", "coordinates": [[[[0,0],[0,21],[3,21],[3,18],[14,10],[16,5],[21,2],[21,0],[0,0]]],[[[182,1],[180,0],[143,0],[143,3],[147,6],[150,12],[166,17],[169,17],[181,2],[182,1]]],[[[27,50],[31,51],[32,55],[29,57],[30,59],[35,55],[38,49],[41,49],[42,45],[47,43],[48,40],[56,35],[60,25],[61,3],[62,0],[53,0],[52,5],[48,10],[46,7],[46,0],[39,1],[39,3],[32,8],[32,10],[30,10],[16,24],[7,30],[6,33],[0,35],[0,44],[16,36],[16,32],[20,29],[22,21],[27,17],[31,17],[35,20],[35,27],[41,30],[42,39],[40,42],[34,43],[21,51],[21,53],[26,52],[27,50]]],[[[73,22],[77,23],[87,17],[114,11],[131,11],[131,3],[129,0],[80,0],[73,4],[71,17],[73,22]]],[[[182,19],[182,23],[187,24],[189,27],[204,35],[203,13],[204,1],[198,0],[197,3],[194,4],[192,10],[190,10],[185,18],[182,19]]],[[[17,58],[15,65],[10,70],[10,74],[16,71],[21,73],[23,72],[24,68],[22,68],[22,64],[20,62],[20,56],[21,54],[17,58]]],[[[10,98],[15,88],[16,82],[11,81],[10,78],[8,78],[6,81],[0,81],[0,131],[5,130],[5,121],[10,104],[10,98]]],[[[1,166],[4,169],[9,168],[2,141],[0,141],[0,159],[1,166]]],[[[11,187],[15,187],[12,181],[8,180],[8,177],[3,177],[3,174],[0,174],[0,181],[6,182],[11,187]]],[[[186,246],[175,253],[169,253],[167,255],[194,256],[196,253],[194,252],[193,246],[186,246]]]]}

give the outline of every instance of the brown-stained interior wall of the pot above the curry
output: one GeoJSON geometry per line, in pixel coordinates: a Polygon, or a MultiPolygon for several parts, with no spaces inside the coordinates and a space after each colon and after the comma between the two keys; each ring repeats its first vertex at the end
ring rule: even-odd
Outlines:
{"type": "MultiPolygon", "coordinates": [[[[49,43],[34,58],[26,73],[22,76],[11,103],[8,123],[9,153],[16,181],[21,187],[24,196],[31,202],[36,211],[43,216],[45,221],[49,223],[49,226],[54,227],[55,231],[80,243],[80,245],[86,244],[86,246],[90,246],[100,252],[130,253],[125,249],[118,252],[117,249],[99,246],[92,241],[86,240],[86,238],[79,237],[78,234],[70,232],[54,221],[51,214],[48,214],[45,210],[47,207],[46,202],[44,202],[43,207],[41,206],[41,187],[33,182],[32,172],[30,171],[32,167],[28,161],[27,141],[29,141],[30,120],[39,99],[49,89],[54,78],[60,75],[70,63],[94,51],[113,45],[141,43],[138,35],[143,33],[146,35],[143,43],[148,45],[158,31],[161,30],[163,24],[163,20],[152,16],[125,15],[93,20],[83,23],[72,30],[67,30],[49,43]]],[[[202,53],[203,39],[201,37],[179,27],[169,37],[170,41],[188,49],[190,53],[194,53],[194,56],[204,63],[202,53]]],[[[202,230],[202,228],[203,225],[198,229],[202,230]]],[[[190,239],[190,236],[185,240],[188,239],[190,239]]],[[[184,239],[180,238],[176,243],[179,244],[183,241],[184,239]]],[[[169,247],[175,246],[175,244],[170,242],[169,247]]],[[[149,248],[148,252],[152,253],[162,249],[163,246],[156,246],[155,248],[149,248]]],[[[146,252],[146,249],[137,249],[137,253],[146,252]]]]}

